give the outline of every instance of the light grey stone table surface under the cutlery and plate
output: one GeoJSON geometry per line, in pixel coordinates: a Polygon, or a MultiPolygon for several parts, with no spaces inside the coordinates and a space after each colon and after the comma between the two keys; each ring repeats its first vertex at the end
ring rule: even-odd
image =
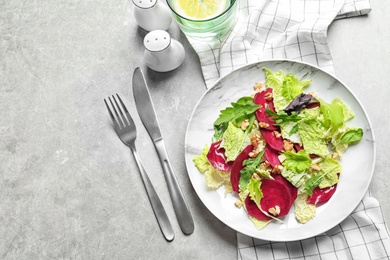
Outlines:
{"type": "MultiPolygon", "coordinates": [[[[336,75],[360,99],[376,136],[370,189],[390,223],[390,4],[329,28],[336,75]]],[[[236,259],[235,231],[201,203],[184,164],[189,115],[206,87],[199,60],[175,24],[186,59],[168,73],[142,59],[131,1],[0,0],[0,257],[2,259],[236,259]],[[130,88],[140,66],[195,232],[177,224],[157,154],[130,88]],[[119,93],[136,142],[176,233],[157,226],[129,149],[103,99],[119,93]]]]}

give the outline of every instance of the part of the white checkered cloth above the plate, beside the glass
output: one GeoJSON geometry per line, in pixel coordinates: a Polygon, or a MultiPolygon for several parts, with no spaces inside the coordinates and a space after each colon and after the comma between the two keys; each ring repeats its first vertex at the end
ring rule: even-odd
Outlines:
{"type": "Polygon", "coordinates": [[[333,73],[327,30],[335,19],[364,15],[369,0],[237,0],[239,18],[228,37],[188,38],[198,53],[207,87],[248,63],[299,60],[333,73]]]}

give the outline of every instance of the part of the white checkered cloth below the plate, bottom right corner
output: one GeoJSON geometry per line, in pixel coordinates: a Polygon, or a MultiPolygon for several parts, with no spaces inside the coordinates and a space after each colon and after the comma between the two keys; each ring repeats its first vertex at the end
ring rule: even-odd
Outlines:
{"type": "Polygon", "coordinates": [[[238,259],[389,259],[390,239],[378,201],[369,194],[343,222],[313,238],[270,242],[237,234],[238,259]]]}

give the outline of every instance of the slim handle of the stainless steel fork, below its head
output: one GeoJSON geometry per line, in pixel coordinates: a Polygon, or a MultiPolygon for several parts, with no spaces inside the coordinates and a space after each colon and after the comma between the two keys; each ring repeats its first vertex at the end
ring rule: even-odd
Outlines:
{"type": "Polygon", "coordinates": [[[156,190],[154,189],[153,184],[150,181],[149,176],[141,163],[141,159],[138,156],[137,150],[135,149],[135,147],[132,147],[131,151],[133,152],[135,161],[137,162],[137,166],[139,172],[141,173],[141,178],[144,183],[146,193],[148,194],[150,204],[152,205],[152,209],[160,226],[161,232],[163,233],[165,239],[170,242],[175,238],[175,233],[171,226],[171,222],[169,221],[164,206],[162,205],[160,198],[158,197],[156,190]]]}

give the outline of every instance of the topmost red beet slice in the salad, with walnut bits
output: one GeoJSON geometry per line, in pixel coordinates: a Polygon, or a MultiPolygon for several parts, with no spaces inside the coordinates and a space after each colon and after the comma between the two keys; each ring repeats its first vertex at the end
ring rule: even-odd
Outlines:
{"type": "Polygon", "coordinates": [[[267,88],[261,92],[256,93],[253,102],[257,105],[261,105],[261,108],[256,110],[256,118],[257,121],[267,123],[269,127],[267,129],[270,130],[278,130],[279,127],[275,126],[276,123],[274,120],[272,120],[272,117],[269,117],[266,112],[266,107],[271,109],[275,112],[275,106],[272,100],[267,101],[265,99],[265,95],[268,93],[272,93],[272,88],[267,88]]]}

